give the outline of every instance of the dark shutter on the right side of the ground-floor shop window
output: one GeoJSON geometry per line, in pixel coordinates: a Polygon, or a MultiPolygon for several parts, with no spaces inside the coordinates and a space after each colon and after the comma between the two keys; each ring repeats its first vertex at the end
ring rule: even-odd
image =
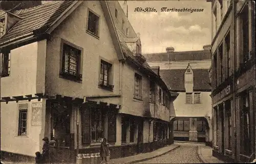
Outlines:
{"type": "Polygon", "coordinates": [[[116,142],[116,111],[108,112],[108,142],[115,143],[116,142]]]}

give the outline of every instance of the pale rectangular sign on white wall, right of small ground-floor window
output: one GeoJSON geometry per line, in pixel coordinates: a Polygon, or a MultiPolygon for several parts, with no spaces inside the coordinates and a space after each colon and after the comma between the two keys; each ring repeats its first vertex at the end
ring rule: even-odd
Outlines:
{"type": "Polygon", "coordinates": [[[42,102],[32,103],[31,126],[42,125],[42,102]]]}

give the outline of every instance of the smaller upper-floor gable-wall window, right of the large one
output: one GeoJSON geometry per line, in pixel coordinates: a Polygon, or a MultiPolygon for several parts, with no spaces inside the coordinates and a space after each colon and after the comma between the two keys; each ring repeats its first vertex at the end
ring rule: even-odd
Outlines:
{"type": "Polygon", "coordinates": [[[99,86],[104,88],[113,89],[114,86],[111,85],[111,69],[112,64],[100,60],[100,79],[99,79],[99,86]]]}

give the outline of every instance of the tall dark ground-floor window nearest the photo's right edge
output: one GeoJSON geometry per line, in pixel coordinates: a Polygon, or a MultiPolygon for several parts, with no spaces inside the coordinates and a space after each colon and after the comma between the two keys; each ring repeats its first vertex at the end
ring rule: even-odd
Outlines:
{"type": "Polygon", "coordinates": [[[250,105],[249,105],[249,93],[244,93],[242,96],[242,142],[243,148],[242,153],[249,155],[251,153],[251,138],[250,138],[250,105]]]}

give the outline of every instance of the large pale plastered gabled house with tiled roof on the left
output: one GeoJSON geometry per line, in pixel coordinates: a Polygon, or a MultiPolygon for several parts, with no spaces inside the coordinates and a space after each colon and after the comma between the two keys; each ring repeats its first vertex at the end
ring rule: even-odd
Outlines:
{"type": "Polygon", "coordinates": [[[111,158],[173,143],[177,94],[148,66],[117,1],[2,13],[13,24],[1,36],[1,158],[34,159],[44,136],[60,162],[98,153],[102,138],[111,158]]]}

